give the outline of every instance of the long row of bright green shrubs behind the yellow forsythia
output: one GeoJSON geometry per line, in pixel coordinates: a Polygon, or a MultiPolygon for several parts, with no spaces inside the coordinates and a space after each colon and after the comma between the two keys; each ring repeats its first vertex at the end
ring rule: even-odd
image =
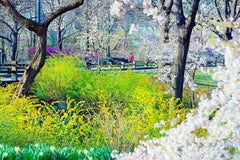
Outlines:
{"type": "Polygon", "coordinates": [[[146,74],[132,71],[98,74],[79,67],[80,63],[74,57],[49,59],[35,80],[33,94],[47,102],[70,98],[84,100],[91,107],[114,103],[121,108],[130,104],[148,106],[155,103],[153,99],[162,97],[162,86],[146,74]]]}

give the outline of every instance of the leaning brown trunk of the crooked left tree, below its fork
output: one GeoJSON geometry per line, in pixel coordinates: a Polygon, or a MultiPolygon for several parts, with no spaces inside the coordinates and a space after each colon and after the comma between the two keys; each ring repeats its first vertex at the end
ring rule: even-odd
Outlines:
{"type": "Polygon", "coordinates": [[[38,36],[38,45],[34,57],[25,69],[22,79],[17,87],[17,95],[27,95],[28,91],[37,76],[40,69],[43,67],[46,59],[46,42],[47,42],[47,29],[44,30],[42,35],[38,36]]]}

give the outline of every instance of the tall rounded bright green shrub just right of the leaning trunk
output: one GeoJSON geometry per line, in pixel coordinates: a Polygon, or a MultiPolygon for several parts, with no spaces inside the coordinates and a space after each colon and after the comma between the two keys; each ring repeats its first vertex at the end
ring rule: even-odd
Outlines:
{"type": "Polygon", "coordinates": [[[77,57],[50,58],[33,84],[33,93],[42,100],[79,98],[89,74],[79,72],[83,62],[77,57]]]}

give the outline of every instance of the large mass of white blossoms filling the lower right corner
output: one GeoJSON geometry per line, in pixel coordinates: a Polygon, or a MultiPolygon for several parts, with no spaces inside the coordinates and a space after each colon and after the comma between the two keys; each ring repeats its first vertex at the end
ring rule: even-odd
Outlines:
{"type": "MultiPolygon", "coordinates": [[[[234,32],[238,32],[234,29],[234,32]]],[[[119,160],[210,160],[240,159],[240,40],[222,42],[225,67],[213,78],[218,87],[202,96],[198,109],[186,121],[165,132],[160,139],[141,141],[133,153],[114,154],[119,160]],[[197,134],[204,130],[204,134],[197,134]]]]}

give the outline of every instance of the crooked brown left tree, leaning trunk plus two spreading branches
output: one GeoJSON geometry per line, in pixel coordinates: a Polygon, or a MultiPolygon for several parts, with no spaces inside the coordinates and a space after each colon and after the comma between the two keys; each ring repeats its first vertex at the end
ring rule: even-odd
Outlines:
{"type": "Polygon", "coordinates": [[[17,87],[18,95],[27,95],[35,77],[43,67],[46,59],[47,29],[49,24],[61,14],[75,9],[83,4],[83,0],[77,0],[66,6],[63,6],[51,13],[45,22],[37,23],[31,19],[23,17],[14,7],[10,0],[0,0],[6,10],[12,15],[13,19],[23,27],[33,31],[38,36],[37,49],[29,66],[26,68],[22,79],[17,87]]]}

